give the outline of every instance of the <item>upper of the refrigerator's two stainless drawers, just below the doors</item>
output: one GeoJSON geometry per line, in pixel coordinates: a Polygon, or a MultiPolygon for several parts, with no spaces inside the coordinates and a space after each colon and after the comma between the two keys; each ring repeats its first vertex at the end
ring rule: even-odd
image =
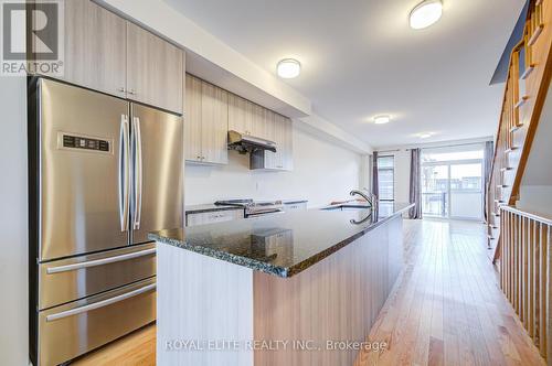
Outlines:
{"type": "Polygon", "coordinates": [[[156,274],[155,243],[39,265],[39,310],[156,274]]]}

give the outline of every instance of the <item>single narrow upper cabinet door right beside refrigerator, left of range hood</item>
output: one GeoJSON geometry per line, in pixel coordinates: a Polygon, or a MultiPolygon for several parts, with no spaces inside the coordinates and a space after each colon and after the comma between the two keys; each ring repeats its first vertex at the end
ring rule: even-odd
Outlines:
{"type": "Polygon", "coordinates": [[[201,80],[185,75],[184,157],[201,161],[201,80]]]}

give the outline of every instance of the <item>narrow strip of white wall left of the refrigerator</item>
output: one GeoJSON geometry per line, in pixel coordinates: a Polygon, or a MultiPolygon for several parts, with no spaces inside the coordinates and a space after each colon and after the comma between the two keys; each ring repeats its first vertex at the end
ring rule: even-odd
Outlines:
{"type": "Polygon", "coordinates": [[[0,365],[28,365],[26,83],[0,76],[0,365]]]}

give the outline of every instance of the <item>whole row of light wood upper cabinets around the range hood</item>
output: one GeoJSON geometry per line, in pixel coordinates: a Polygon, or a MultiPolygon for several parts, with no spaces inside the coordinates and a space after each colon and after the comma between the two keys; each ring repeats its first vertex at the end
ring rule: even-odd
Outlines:
{"type": "Polygon", "coordinates": [[[261,159],[257,160],[255,155],[253,169],[293,169],[293,130],[289,118],[187,75],[185,160],[226,164],[229,130],[276,142],[276,152],[255,152],[261,154],[261,159]]]}

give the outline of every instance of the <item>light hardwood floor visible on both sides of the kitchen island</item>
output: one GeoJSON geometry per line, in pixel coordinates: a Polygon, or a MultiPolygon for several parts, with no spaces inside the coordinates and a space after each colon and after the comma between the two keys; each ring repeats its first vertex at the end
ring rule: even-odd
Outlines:
{"type": "MultiPolygon", "coordinates": [[[[403,277],[369,337],[389,346],[354,366],[544,365],[498,287],[484,225],[405,220],[404,236],[403,277]]],[[[73,365],[155,363],[151,325],[73,365]]]]}

